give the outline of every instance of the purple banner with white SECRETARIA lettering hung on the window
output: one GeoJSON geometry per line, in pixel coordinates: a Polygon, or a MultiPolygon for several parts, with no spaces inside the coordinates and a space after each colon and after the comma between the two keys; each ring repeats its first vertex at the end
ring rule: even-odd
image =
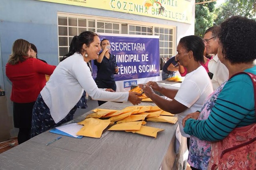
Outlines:
{"type": "MultiPolygon", "coordinates": [[[[108,39],[112,55],[116,56],[119,73],[116,81],[159,76],[159,38],[156,36],[100,35],[108,39]]],[[[97,66],[92,61],[92,76],[96,78],[97,66]]]]}

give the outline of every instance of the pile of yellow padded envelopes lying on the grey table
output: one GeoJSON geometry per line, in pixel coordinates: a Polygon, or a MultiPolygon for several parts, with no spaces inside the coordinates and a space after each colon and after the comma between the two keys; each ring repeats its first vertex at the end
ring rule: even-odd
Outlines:
{"type": "Polygon", "coordinates": [[[144,126],[146,121],[176,123],[178,118],[174,114],[163,111],[158,106],[129,106],[122,110],[94,109],[78,124],[84,127],[77,135],[100,138],[104,129],[113,125],[109,131],[126,131],[155,137],[164,129],[144,126]],[[116,123],[114,125],[114,123],[116,123]]]}

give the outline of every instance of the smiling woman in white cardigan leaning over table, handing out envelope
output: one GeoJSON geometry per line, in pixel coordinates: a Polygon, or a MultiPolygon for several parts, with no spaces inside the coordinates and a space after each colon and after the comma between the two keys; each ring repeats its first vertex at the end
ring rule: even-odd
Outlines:
{"type": "Polygon", "coordinates": [[[136,92],[113,93],[112,89],[97,87],[87,63],[98,59],[100,49],[100,38],[94,32],[84,31],[72,39],[68,54],[58,64],[34,105],[32,137],[73,119],[74,106],[78,102],[86,106],[86,99],[82,97],[85,92],[93,100],[129,100],[134,105],[141,102],[138,98],[141,94],[136,92]]]}

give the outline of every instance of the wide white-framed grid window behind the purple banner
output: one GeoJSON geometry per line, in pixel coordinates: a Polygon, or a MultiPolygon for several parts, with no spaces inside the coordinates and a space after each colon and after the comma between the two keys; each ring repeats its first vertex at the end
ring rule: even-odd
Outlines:
{"type": "MultiPolygon", "coordinates": [[[[121,19],[115,19],[113,21],[109,18],[96,16],[78,16],[75,14],[58,13],[58,48],[60,60],[68,53],[72,38],[83,31],[132,35],[158,35],[160,57],[170,58],[175,53],[175,27],[121,19]]],[[[160,68],[162,68],[162,66],[160,66],[160,68]]]]}

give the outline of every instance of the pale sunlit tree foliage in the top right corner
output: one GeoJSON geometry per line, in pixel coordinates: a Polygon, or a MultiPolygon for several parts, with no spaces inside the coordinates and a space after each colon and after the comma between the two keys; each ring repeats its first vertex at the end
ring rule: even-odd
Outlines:
{"type": "Polygon", "coordinates": [[[216,9],[214,23],[218,25],[231,16],[256,19],[256,0],[225,0],[216,9]]]}

